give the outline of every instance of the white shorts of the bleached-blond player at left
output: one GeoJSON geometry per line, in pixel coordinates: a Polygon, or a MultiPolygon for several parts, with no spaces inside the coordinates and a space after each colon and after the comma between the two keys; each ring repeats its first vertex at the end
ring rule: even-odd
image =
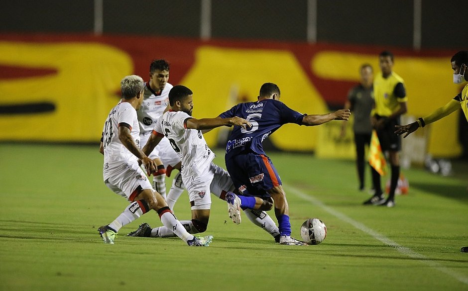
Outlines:
{"type": "Polygon", "coordinates": [[[137,163],[124,164],[120,170],[113,173],[111,177],[104,181],[104,184],[114,193],[127,198],[139,187],[141,190],[153,189],[143,170],[137,163]]]}

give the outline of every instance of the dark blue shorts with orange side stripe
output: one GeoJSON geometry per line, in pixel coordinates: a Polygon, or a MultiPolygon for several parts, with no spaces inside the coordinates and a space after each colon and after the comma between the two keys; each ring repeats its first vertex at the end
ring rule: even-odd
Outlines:
{"type": "Polygon", "coordinates": [[[269,197],[268,190],[282,185],[270,158],[256,153],[242,153],[226,160],[235,188],[244,196],[269,197]]]}

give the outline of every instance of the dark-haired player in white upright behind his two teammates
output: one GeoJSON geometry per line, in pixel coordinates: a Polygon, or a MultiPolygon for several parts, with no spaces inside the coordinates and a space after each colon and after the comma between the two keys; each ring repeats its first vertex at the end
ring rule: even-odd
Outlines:
{"type": "MultiPolygon", "coordinates": [[[[154,122],[168,109],[169,91],[172,85],[169,81],[169,63],[166,60],[153,60],[149,66],[149,81],[145,83],[143,102],[137,111],[138,123],[140,126],[140,148],[149,139],[154,122]]],[[[153,188],[159,192],[167,201],[169,208],[173,208],[174,203],[184,191],[181,183],[180,173],[173,179],[172,187],[166,197],[166,167],[180,170],[180,158],[172,150],[167,139],[161,142],[148,155],[157,165],[153,174],[153,188]]],[[[170,171],[167,172],[170,175],[170,171]]]]}

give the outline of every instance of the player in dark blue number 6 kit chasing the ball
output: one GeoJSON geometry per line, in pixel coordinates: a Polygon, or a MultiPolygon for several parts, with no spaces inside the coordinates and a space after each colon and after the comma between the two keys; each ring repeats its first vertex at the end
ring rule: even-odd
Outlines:
{"type": "Polygon", "coordinates": [[[290,109],[279,101],[280,90],[272,83],[260,88],[258,101],[240,103],[219,115],[220,118],[242,117],[252,127],[235,127],[226,146],[226,167],[238,195],[226,195],[230,215],[239,213],[238,207],[256,209],[262,200],[274,200],[275,215],[280,231],[280,244],[305,245],[291,237],[289,206],[278,172],[263,151],[262,142],[283,124],[296,123],[313,126],[331,120],[348,120],[351,111],[340,109],[323,115],[307,115],[290,109]],[[237,208],[237,209],[236,209],[237,208]]]}

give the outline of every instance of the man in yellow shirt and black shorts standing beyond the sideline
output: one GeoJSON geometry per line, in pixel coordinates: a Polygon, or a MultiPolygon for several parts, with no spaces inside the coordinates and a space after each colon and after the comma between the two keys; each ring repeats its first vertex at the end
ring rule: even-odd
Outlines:
{"type": "Polygon", "coordinates": [[[379,54],[380,74],[377,74],[374,83],[375,108],[371,114],[371,123],[377,131],[380,146],[383,152],[388,152],[391,165],[390,192],[385,199],[380,188],[380,176],[375,184],[376,192],[364,204],[395,206],[395,190],[400,177],[401,139],[395,134],[395,126],[400,124],[400,115],[406,113],[406,89],[403,79],[393,69],[393,54],[383,51],[379,54]]]}

